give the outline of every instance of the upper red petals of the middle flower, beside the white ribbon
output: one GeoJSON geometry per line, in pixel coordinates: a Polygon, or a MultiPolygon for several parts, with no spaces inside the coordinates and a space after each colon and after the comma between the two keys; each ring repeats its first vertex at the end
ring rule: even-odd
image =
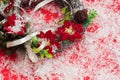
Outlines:
{"type": "Polygon", "coordinates": [[[56,45],[57,48],[60,48],[60,44],[56,41],[56,34],[53,34],[51,32],[51,30],[47,31],[46,33],[41,31],[40,34],[38,34],[37,36],[39,38],[47,39],[47,41],[49,41],[50,45],[56,45]]]}

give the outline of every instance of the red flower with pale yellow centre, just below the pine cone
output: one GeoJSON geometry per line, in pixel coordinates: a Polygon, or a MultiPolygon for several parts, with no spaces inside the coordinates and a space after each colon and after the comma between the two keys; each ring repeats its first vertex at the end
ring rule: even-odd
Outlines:
{"type": "Polygon", "coordinates": [[[83,27],[81,24],[76,24],[72,21],[65,21],[64,26],[57,29],[56,33],[60,36],[60,40],[70,40],[81,38],[83,27]]]}

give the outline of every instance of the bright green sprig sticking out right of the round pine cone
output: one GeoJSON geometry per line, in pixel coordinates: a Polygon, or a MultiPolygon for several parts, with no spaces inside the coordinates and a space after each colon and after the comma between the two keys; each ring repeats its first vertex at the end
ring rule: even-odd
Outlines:
{"type": "Polygon", "coordinates": [[[94,9],[90,10],[90,12],[88,13],[88,19],[85,21],[85,23],[83,23],[83,26],[86,27],[90,25],[90,23],[96,16],[97,16],[97,12],[94,9]]]}

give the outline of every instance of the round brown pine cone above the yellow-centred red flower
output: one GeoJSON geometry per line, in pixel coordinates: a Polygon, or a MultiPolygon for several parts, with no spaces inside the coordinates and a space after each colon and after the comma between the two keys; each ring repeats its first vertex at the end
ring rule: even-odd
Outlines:
{"type": "Polygon", "coordinates": [[[74,20],[77,23],[83,24],[88,19],[87,9],[79,10],[74,15],[74,20]]]}

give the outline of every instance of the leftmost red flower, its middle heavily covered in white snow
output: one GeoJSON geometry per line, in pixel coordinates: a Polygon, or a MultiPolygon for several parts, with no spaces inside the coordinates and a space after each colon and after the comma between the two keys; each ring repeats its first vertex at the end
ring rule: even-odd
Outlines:
{"type": "Polygon", "coordinates": [[[7,33],[22,35],[26,32],[26,22],[23,19],[18,19],[15,14],[7,16],[6,19],[3,25],[7,33]]]}

